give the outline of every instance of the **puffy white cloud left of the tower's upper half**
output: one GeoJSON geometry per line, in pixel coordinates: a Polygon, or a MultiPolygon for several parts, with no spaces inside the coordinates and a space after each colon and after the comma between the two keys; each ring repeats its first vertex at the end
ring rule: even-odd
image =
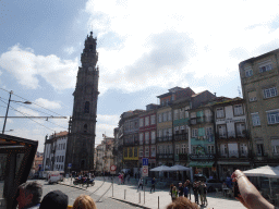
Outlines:
{"type": "Polygon", "coordinates": [[[41,76],[53,88],[63,90],[74,88],[78,62],[77,59],[61,60],[54,54],[36,56],[33,50],[15,45],[1,54],[0,66],[27,88],[38,88],[38,76],[41,76]]]}

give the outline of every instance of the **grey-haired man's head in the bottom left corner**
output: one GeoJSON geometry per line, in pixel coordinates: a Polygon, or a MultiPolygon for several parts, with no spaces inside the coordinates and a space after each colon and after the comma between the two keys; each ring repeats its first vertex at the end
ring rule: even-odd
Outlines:
{"type": "Polygon", "coordinates": [[[40,202],[43,186],[38,182],[26,182],[19,186],[19,209],[36,206],[40,202]]]}

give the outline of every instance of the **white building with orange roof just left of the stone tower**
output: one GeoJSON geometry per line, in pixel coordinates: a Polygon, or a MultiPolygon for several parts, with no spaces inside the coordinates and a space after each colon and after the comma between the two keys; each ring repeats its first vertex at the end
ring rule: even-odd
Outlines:
{"type": "Polygon", "coordinates": [[[44,151],[44,171],[64,171],[68,132],[54,133],[46,137],[44,151]]]}

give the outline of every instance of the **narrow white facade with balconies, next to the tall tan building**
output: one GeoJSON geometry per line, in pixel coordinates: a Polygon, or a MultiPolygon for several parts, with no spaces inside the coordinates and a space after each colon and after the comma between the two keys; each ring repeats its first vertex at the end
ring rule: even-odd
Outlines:
{"type": "Polygon", "coordinates": [[[251,169],[251,140],[247,132],[244,100],[234,98],[214,104],[217,170],[226,180],[235,169],[251,169]]]}

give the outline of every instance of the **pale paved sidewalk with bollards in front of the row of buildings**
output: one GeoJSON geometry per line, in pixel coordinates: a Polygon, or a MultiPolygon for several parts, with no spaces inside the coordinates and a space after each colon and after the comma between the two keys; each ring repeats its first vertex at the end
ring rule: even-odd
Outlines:
{"type": "MultiPolygon", "coordinates": [[[[98,196],[104,195],[104,193],[109,189],[108,193],[104,195],[104,198],[113,198],[113,199],[125,201],[135,206],[140,206],[142,208],[158,209],[158,197],[159,197],[159,208],[166,208],[171,202],[171,197],[169,195],[168,189],[156,189],[155,193],[150,194],[150,187],[145,187],[145,193],[144,193],[144,190],[142,189],[137,192],[137,185],[126,185],[126,184],[119,185],[117,177],[114,177],[113,182],[114,182],[113,197],[112,197],[112,187],[110,187],[111,179],[108,179],[108,177],[106,179],[105,183],[102,177],[96,177],[95,186],[90,186],[87,189],[86,187],[71,185],[71,179],[65,179],[64,182],[62,182],[61,184],[80,187],[92,193],[95,192],[94,194],[98,196]],[[100,187],[101,184],[102,186],[100,187]],[[98,187],[100,188],[96,190],[98,187]],[[125,193],[125,197],[124,197],[124,193],[125,193]],[[141,201],[140,201],[140,198],[141,198],[141,201]],[[145,204],[144,204],[144,200],[145,200],[145,204]]],[[[95,199],[95,201],[97,199],[95,199]]],[[[194,200],[194,195],[192,195],[191,200],[192,201],[194,200]]],[[[208,206],[201,207],[201,208],[245,209],[245,207],[234,198],[223,197],[221,194],[217,195],[216,193],[209,193],[207,195],[207,201],[208,201],[208,206]]]]}

